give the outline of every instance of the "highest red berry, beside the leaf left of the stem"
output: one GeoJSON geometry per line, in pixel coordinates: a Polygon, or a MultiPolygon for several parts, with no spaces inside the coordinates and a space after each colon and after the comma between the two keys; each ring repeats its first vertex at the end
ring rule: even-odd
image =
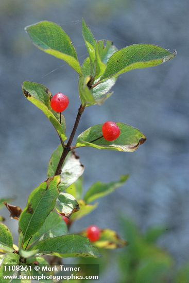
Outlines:
{"type": "Polygon", "coordinates": [[[55,94],[50,100],[51,108],[58,113],[63,112],[69,104],[68,97],[63,93],[55,94]]]}

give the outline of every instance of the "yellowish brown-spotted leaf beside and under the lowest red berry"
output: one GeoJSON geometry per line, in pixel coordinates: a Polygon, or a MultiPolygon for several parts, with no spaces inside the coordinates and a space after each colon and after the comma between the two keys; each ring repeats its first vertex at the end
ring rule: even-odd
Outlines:
{"type": "MultiPolygon", "coordinates": [[[[81,232],[81,235],[87,237],[87,231],[81,232]]],[[[126,241],[122,240],[115,231],[110,229],[101,229],[100,238],[98,241],[93,242],[99,249],[117,249],[127,244],[126,241]]]]}

